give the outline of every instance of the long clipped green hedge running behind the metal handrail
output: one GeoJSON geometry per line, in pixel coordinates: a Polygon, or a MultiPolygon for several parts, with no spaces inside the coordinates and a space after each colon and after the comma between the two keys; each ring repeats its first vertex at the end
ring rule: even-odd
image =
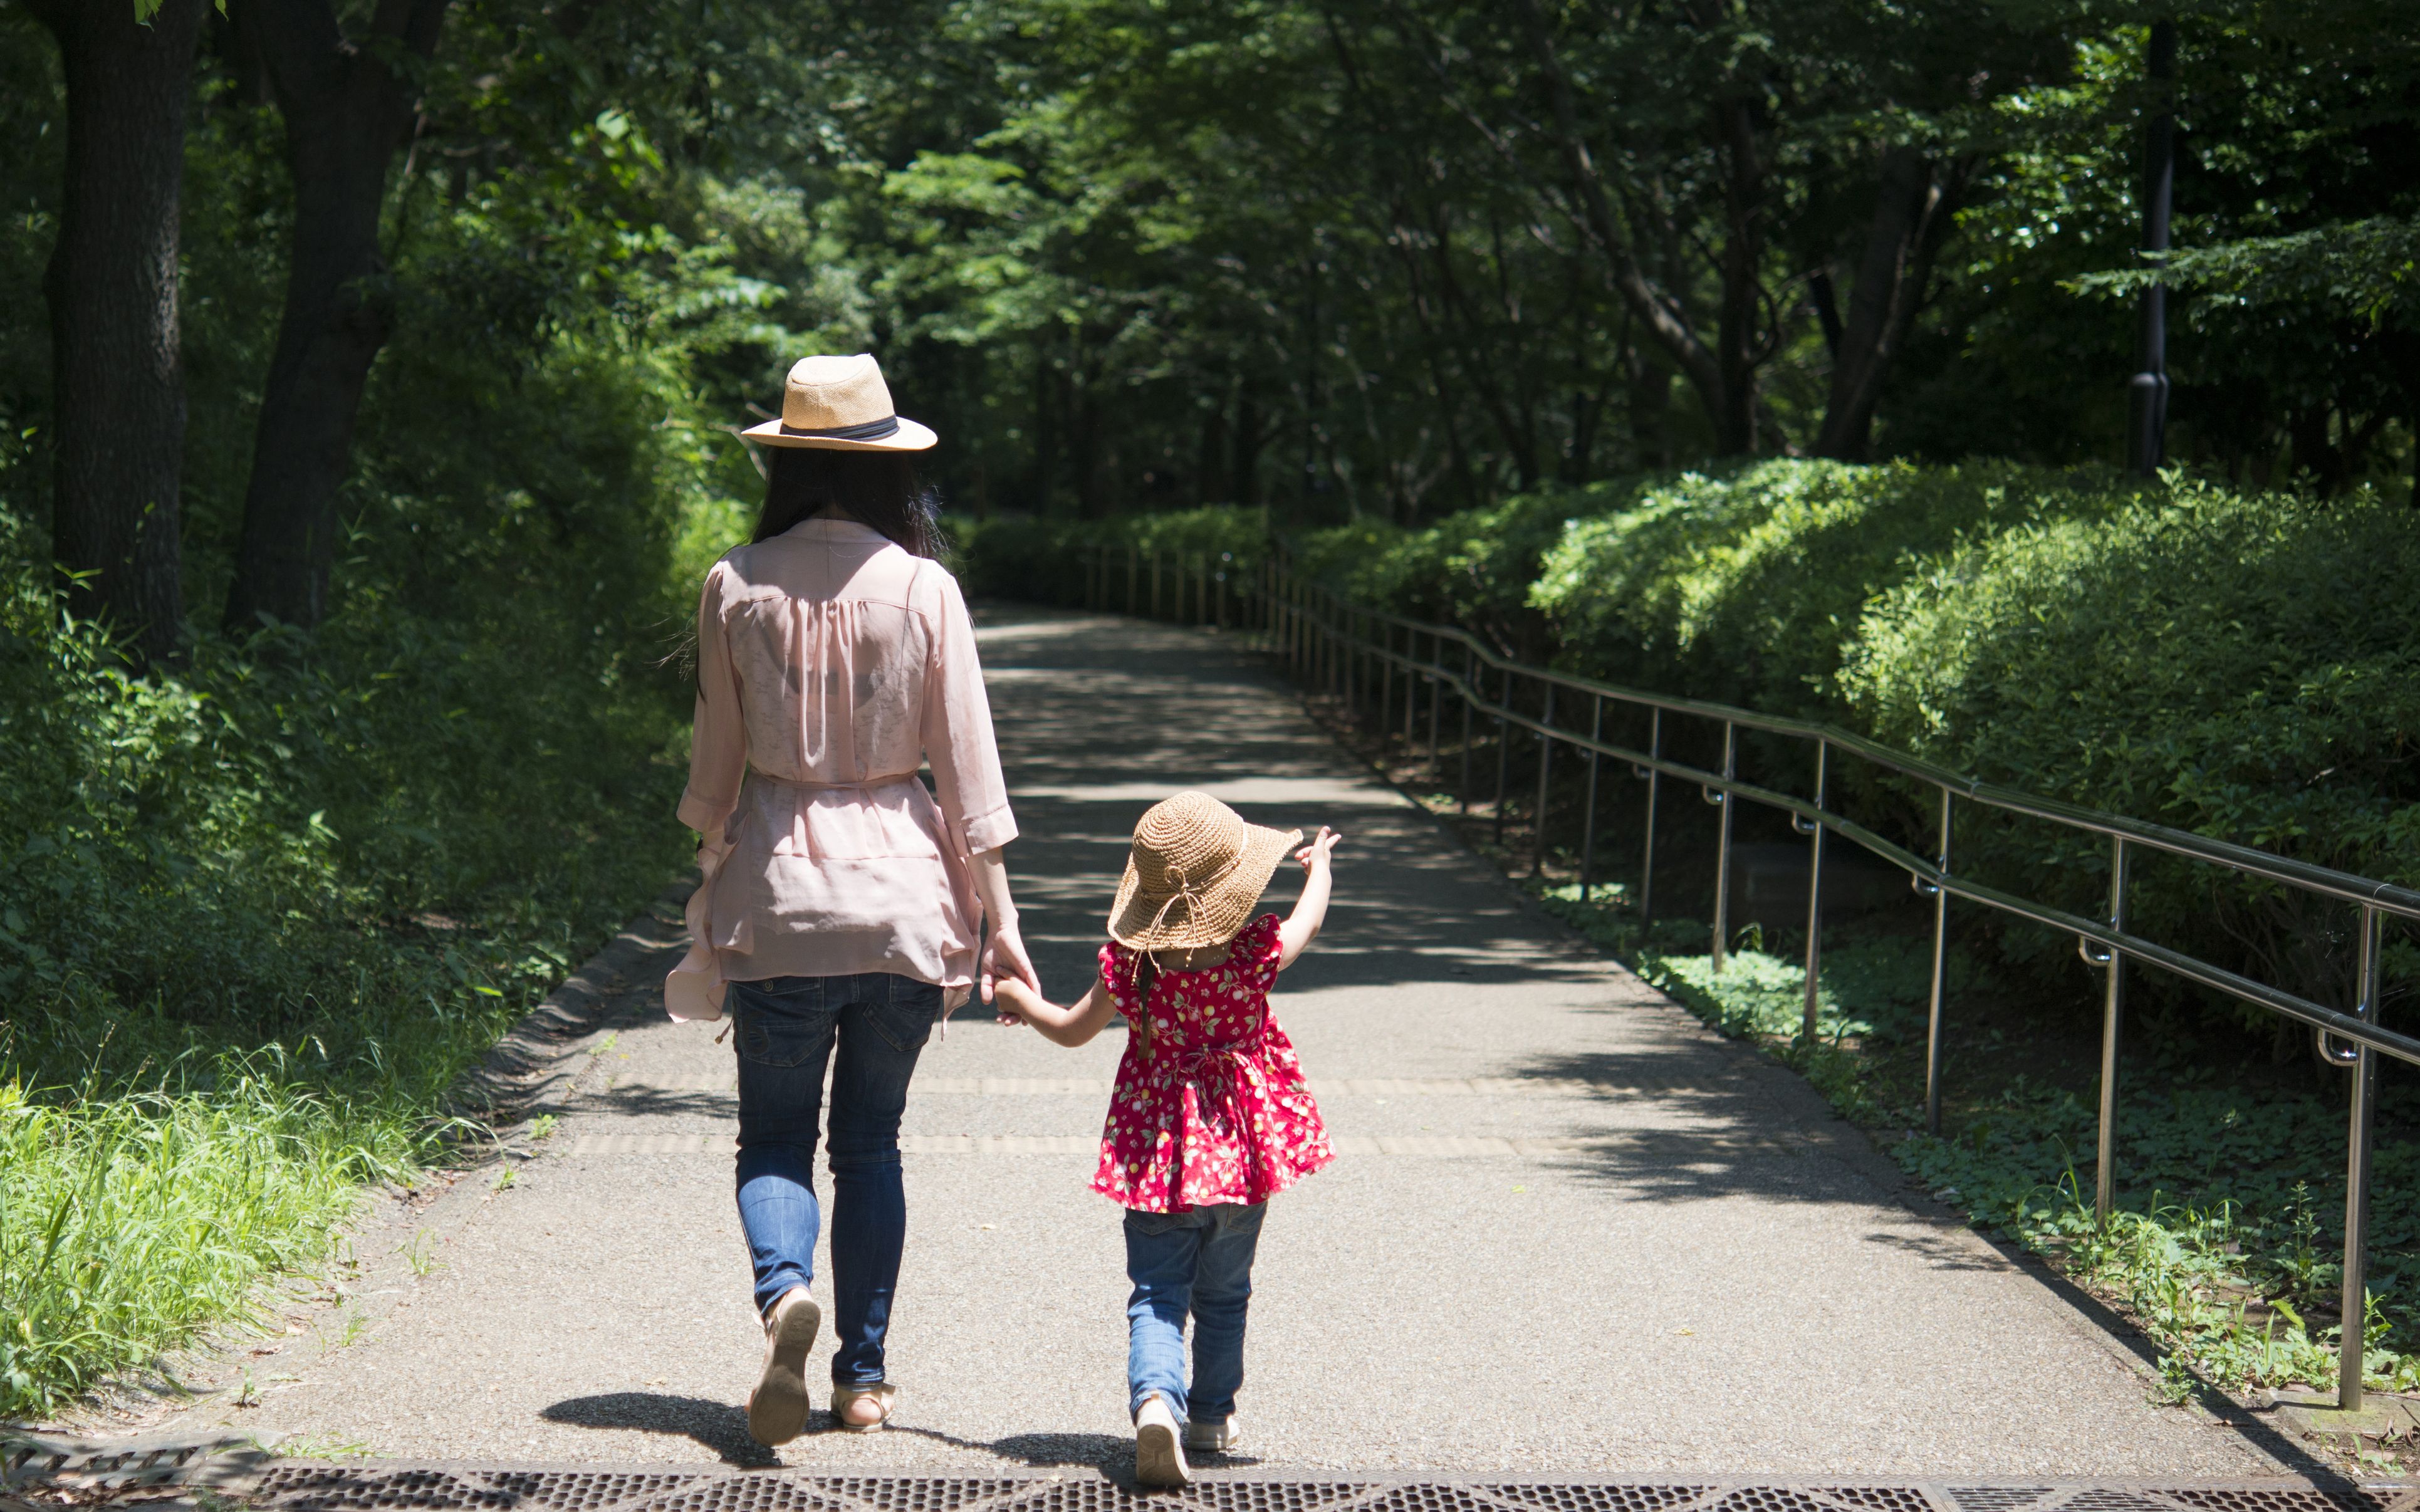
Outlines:
{"type": "MultiPolygon", "coordinates": [[[[1237,549],[1251,525],[1239,510],[990,525],[978,561],[999,593],[1074,593],[1062,564],[1084,539],[1237,549]],[[992,556],[1009,539],[1048,547],[992,556]]],[[[1365,602],[1454,619],[1525,658],[1830,719],[2026,791],[2420,881],[2420,518],[2369,494],[1774,460],[1290,544],[1365,602]]],[[[1839,791],[1924,832],[1929,803],[1905,784],[1851,769],[1839,791]]],[[[1960,866],[2103,907],[2105,844],[2047,825],[1977,813],[1960,866]]],[[[2132,917],[2297,992],[2350,989],[2345,910],[2142,859],[2132,917]]],[[[1994,931],[2004,958],[2074,982],[2069,941],[1994,931]]],[[[2401,943],[2391,960],[2420,970],[2401,943]]]]}

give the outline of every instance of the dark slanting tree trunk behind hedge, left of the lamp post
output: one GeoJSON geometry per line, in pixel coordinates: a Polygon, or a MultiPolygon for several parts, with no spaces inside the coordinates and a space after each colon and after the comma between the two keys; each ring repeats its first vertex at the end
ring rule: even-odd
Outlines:
{"type": "Polygon", "coordinates": [[[1955,181],[1955,172],[1943,174],[1914,148],[1883,152],[1873,223],[1849,288],[1849,319],[1832,344],[1832,394],[1815,435],[1817,457],[1866,460],[1873,409],[1924,302],[1955,181]]]}

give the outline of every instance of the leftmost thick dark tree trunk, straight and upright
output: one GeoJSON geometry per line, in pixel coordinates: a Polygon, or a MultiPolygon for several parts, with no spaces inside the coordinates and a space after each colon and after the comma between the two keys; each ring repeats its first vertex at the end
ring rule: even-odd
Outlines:
{"type": "Polygon", "coordinates": [[[184,373],[177,201],[201,0],[31,0],[68,80],[68,177],[44,273],[56,419],[51,554],[68,607],[145,663],[177,656],[184,373]]]}

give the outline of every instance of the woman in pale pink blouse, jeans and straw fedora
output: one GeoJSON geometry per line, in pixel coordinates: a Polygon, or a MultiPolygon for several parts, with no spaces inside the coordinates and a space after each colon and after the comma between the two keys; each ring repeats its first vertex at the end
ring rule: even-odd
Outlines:
{"type": "Polygon", "coordinates": [[[1033,982],[999,847],[1016,837],[958,583],[934,561],[934,443],[869,356],[789,370],[765,513],[697,605],[697,733],[680,820],[702,835],[675,1018],[738,1028],[738,1205],[765,1318],[748,1432],[806,1427],[823,1311],[813,1156],[832,1067],[832,1418],[891,1418],[883,1333],[908,1205],[908,1077],[946,1006],[992,973],[1033,982]],[[932,791],[917,767],[932,764],[932,791]],[[937,803],[939,798],[939,803],[937,803]],[[978,960],[975,919],[990,922],[978,960]]]}

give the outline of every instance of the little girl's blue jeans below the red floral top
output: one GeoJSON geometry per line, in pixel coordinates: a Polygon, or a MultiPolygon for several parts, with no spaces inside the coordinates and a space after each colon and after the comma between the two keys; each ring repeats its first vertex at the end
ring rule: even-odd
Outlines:
{"type": "Polygon", "coordinates": [[[1128,1410],[1152,1396],[1195,1422],[1234,1413],[1244,1384],[1244,1309],[1251,1304],[1251,1253],[1261,1246],[1268,1202],[1220,1202],[1193,1212],[1125,1214],[1128,1410]],[[1186,1391],[1186,1314],[1193,1314],[1193,1389],[1186,1391]],[[1191,1403],[1191,1406],[1188,1406],[1191,1403]]]}

